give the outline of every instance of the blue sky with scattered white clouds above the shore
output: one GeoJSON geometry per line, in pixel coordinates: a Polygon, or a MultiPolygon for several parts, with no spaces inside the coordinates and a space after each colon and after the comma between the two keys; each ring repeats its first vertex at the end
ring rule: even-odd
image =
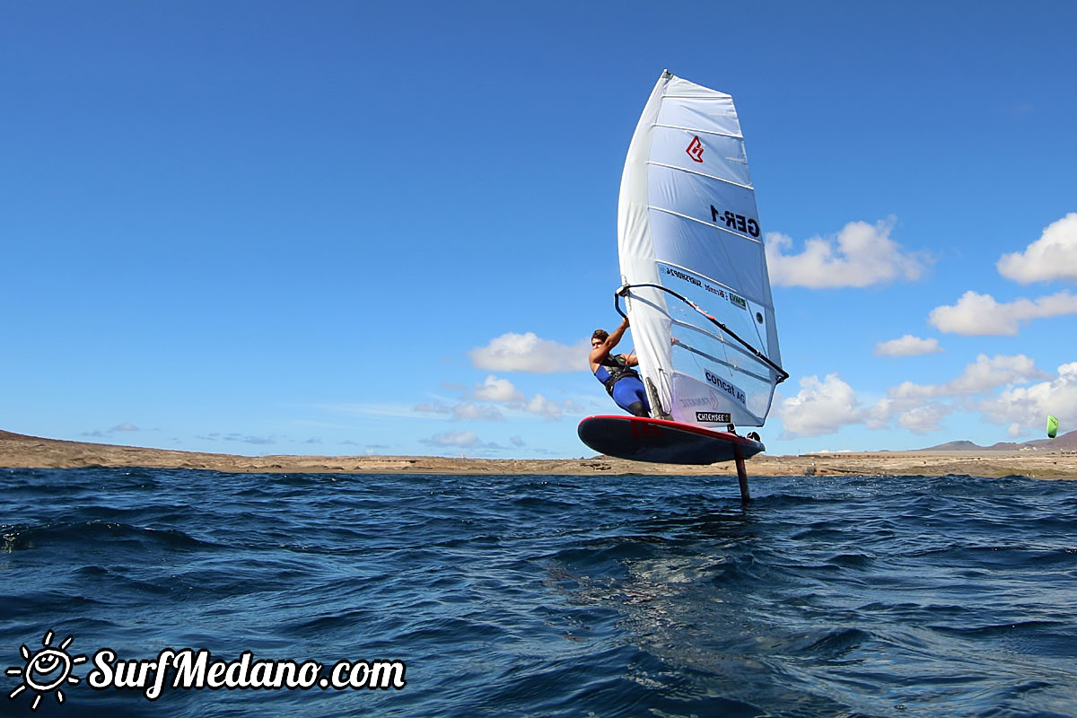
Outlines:
{"type": "MultiPolygon", "coordinates": [[[[659,73],[733,96],[770,453],[1077,427],[1077,5],[0,4],[0,427],[591,455],[659,73]]],[[[623,343],[627,350],[631,338],[623,343]]]]}

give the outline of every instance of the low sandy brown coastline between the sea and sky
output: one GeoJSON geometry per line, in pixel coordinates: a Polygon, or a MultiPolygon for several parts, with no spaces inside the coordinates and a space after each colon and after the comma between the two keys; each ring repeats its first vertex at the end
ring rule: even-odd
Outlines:
{"type": "MultiPolygon", "coordinates": [[[[464,459],[450,456],[242,456],[171,449],[145,449],[66,441],[0,431],[0,467],[78,468],[85,466],[195,468],[251,474],[491,474],[736,476],[732,462],[709,466],[648,464],[590,459],[464,459]]],[[[1026,476],[1077,479],[1077,454],[1037,451],[869,451],[778,456],[747,461],[749,476],[947,476],[987,478],[1026,476]]]]}

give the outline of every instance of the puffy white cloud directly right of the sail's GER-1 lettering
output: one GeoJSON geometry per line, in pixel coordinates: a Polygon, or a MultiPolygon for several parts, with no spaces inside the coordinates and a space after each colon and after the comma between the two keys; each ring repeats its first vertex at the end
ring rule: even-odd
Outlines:
{"type": "Polygon", "coordinates": [[[931,262],[926,253],[908,252],[890,238],[893,219],[850,222],[834,237],[813,237],[800,254],[782,254],[793,239],[767,235],[767,267],[775,286],[834,288],[870,286],[896,279],[917,280],[931,262]]]}

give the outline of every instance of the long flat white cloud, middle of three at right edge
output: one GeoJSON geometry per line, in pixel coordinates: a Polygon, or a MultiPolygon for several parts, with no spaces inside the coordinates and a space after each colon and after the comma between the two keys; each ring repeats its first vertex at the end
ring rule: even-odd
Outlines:
{"type": "Polygon", "coordinates": [[[969,290],[956,305],[936,307],[927,321],[940,332],[975,336],[1013,336],[1021,322],[1062,314],[1077,314],[1077,296],[1067,291],[1032,299],[999,304],[990,294],[969,290]]]}

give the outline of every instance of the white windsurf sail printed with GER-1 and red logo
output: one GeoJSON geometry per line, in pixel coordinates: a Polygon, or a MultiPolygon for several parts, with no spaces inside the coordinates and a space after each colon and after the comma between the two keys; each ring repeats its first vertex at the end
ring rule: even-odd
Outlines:
{"type": "Polygon", "coordinates": [[[658,80],[629,145],[617,241],[652,416],[761,426],[787,375],[729,95],[658,80]]]}

